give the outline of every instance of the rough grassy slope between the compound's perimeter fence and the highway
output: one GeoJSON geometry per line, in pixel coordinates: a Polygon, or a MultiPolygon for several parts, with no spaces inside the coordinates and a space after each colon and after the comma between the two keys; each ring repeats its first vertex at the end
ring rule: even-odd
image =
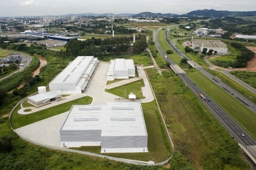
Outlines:
{"type": "Polygon", "coordinates": [[[173,71],[147,73],[175,145],[171,166],[250,169],[236,141],[173,71]]]}

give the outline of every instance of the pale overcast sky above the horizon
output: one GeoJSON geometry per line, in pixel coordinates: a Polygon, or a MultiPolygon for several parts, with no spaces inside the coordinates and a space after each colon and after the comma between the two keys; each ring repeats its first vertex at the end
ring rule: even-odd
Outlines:
{"type": "Polygon", "coordinates": [[[186,14],[193,10],[255,11],[255,0],[0,0],[1,16],[140,12],[186,14]]]}

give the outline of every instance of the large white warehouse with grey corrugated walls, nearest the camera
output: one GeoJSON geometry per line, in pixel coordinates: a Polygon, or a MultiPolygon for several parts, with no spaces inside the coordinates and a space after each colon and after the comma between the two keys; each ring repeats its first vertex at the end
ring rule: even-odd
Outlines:
{"type": "Polygon", "coordinates": [[[62,147],[101,146],[101,153],[147,152],[140,102],[74,105],[60,129],[62,147]]]}

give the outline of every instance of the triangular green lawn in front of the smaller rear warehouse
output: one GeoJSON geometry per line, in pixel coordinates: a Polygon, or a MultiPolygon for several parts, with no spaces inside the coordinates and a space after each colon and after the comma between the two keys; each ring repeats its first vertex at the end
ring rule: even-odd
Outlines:
{"type": "Polygon", "coordinates": [[[145,84],[143,80],[138,80],[136,82],[131,82],[129,84],[125,84],[123,86],[118,86],[116,88],[111,88],[111,89],[105,89],[107,93],[111,93],[114,95],[117,95],[122,98],[127,98],[130,93],[134,93],[136,97],[139,97],[140,99],[144,99],[142,95],[142,90],[141,87],[144,87],[145,84]]]}

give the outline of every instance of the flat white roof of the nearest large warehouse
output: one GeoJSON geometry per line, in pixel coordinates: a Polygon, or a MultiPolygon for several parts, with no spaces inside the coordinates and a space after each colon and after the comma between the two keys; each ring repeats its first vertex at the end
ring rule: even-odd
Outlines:
{"type": "Polygon", "coordinates": [[[61,130],[102,130],[101,136],[147,136],[140,102],[74,105],[61,130]]]}

